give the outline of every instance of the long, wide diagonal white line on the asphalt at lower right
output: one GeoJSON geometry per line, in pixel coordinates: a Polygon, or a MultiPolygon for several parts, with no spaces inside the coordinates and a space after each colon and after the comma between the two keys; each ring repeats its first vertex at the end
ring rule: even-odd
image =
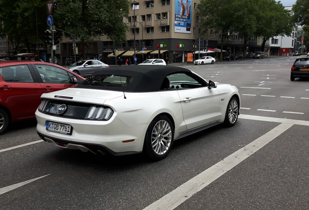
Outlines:
{"type": "Polygon", "coordinates": [[[199,175],[191,178],[186,183],[180,185],[172,192],[166,194],[159,200],[155,201],[144,210],[173,210],[180,204],[188,200],[196,192],[203,190],[210,183],[224,175],[226,172],[233,169],[240,162],[250,157],[263,146],[277,138],[279,135],[288,130],[292,124],[281,123],[271,131],[267,132],[258,139],[252,141],[232,155],[224,158],[217,164],[206,169],[199,175]]]}

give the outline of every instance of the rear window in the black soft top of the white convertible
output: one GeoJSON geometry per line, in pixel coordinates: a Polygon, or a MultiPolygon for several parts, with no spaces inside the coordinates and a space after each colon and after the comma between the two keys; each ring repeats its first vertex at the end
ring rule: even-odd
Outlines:
{"type": "Polygon", "coordinates": [[[133,81],[133,77],[124,75],[93,75],[88,77],[82,85],[104,87],[126,87],[133,81]]]}

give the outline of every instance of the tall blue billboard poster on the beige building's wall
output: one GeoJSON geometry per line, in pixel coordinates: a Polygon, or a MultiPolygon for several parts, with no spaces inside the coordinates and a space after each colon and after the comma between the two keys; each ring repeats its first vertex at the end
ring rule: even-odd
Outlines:
{"type": "Polygon", "coordinates": [[[175,32],[191,34],[191,0],[176,0],[175,32]]]}

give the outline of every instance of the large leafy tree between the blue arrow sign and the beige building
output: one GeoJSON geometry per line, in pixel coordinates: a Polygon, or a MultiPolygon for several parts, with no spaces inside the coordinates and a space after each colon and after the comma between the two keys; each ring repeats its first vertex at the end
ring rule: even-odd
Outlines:
{"type": "Polygon", "coordinates": [[[86,59],[86,43],[100,34],[120,43],[126,39],[123,17],[129,15],[128,0],[55,0],[53,7],[56,28],[67,31],[82,43],[86,59]]]}

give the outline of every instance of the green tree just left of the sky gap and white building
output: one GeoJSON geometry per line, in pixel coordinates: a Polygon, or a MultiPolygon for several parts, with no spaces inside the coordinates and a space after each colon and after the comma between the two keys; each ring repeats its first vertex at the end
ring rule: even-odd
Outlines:
{"type": "Polygon", "coordinates": [[[259,0],[257,13],[256,37],[263,37],[261,51],[264,52],[265,43],[277,35],[291,36],[293,24],[291,13],[286,10],[280,1],[259,0]]]}

